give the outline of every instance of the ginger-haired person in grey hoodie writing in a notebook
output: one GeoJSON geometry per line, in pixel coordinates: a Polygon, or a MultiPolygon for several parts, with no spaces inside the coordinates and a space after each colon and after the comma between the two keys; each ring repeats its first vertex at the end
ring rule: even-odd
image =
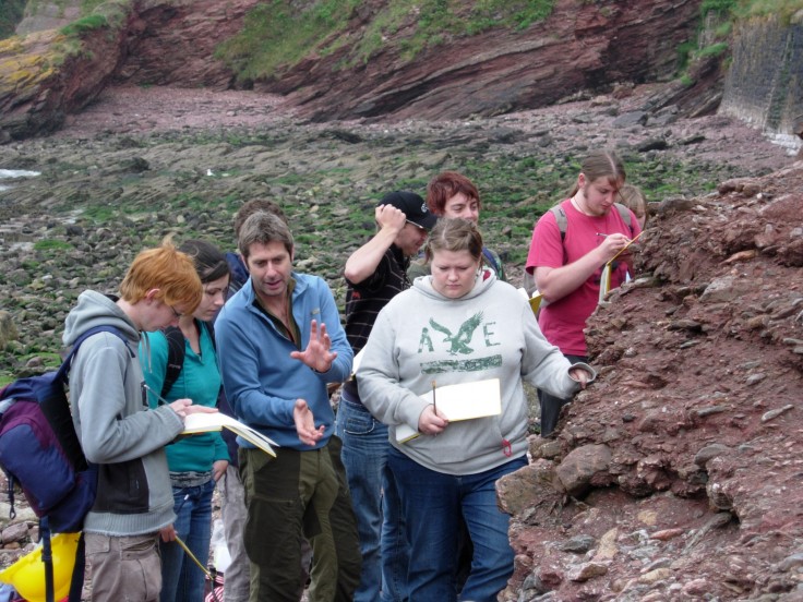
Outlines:
{"type": "Polygon", "coordinates": [[[81,447],[98,465],[97,497],[83,529],[93,600],[159,597],[159,533],[169,537],[176,520],[165,445],[183,431],[187,414],[217,410],[181,398],[143,411],[147,392],[137,345],[143,332],[192,314],[202,297],[192,258],[164,242],[136,256],[119,298],[86,290],[67,316],[68,346],[96,326],[122,334],[89,336],[69,375],[81,447]]]}

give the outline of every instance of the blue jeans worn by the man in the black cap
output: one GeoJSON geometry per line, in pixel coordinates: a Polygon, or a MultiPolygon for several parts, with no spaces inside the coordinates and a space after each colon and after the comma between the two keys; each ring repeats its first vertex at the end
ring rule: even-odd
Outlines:
{"type": "Polygon", "coordinates": [[[344,392],[337,410],[340,458],[357,516],[362,574],[355,602],[407,600],[409,546],[398,490],[387,468],[387,426],[344,392]]]}

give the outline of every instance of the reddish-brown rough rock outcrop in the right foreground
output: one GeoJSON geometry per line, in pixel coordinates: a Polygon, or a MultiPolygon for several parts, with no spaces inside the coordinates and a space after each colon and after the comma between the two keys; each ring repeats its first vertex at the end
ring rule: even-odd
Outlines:
{"type": "Polygon", "coordinates": [[[599,382],[499,485],[505,600],[803,597],[801,190],[799,161],[658,206],[589,321],[599,382]]]}

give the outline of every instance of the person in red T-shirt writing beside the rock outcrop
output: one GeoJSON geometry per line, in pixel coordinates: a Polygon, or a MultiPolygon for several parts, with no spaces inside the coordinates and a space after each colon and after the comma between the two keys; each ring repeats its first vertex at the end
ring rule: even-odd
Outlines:
{"type": "MultiPolygon", "coordinates": [[[[544,213],[532,231],[526,270],[542,294],[538,322],[543,335],[573,362],[586,361],[586,320],[599,302],[604,265],[622,252],[642,228],[633,212],[622,207],[630,225],[614,203],[625,182],[622,160],[615,153],[590,154],[568,197],[558,212],[544,213]],[[565,229],[559,225],[565,218],[565,229]]],[[[619,260],[623,260],[624,255],[619,260]]],[[[611,266],[611,288],[625,281],[627,265],[611,266]]],[[[531,292],[531,291],[529,291],[531,292]]],[[[539,389],[541,436],[552,433],[561,408],[571,397],[539,389]]]]}

